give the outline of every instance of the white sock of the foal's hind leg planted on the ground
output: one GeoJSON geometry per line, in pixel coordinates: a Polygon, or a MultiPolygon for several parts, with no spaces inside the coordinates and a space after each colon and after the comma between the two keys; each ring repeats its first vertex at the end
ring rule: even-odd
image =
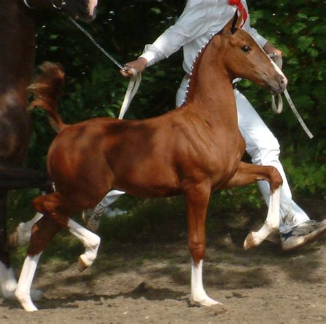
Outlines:
{"type": "Polygon", "coordinates": [[[16,290],[16,297],[27,312],[34,312],[37,310],[34,303],[32,303],[30,287],[34,279],[37,264],[41,257],[41,253],[31,257],[28,255],[25,258],[21,275],[19,277],[18,286],[16,290]]]}

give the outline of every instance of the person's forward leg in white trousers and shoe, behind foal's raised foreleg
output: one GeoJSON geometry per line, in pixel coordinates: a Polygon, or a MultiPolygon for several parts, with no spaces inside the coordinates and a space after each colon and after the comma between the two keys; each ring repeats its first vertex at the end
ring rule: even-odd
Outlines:
{"type": "MultiPolygon", "coordinates": [[[[257,165],[272,165],[283,178],[281,189],[280,232],[283,249],[290,250],[301,246],[326,231],[326,222],[310,221],[309,217],[292,200],[290,186],[279,161],[279,143],[254,110],[250,102],[237,89],[235,99],[239,119],[239,128],[246,142],[246,150],[257,165]],[[284,234],[284,235],[283,235],[284,234]]],[[[270,186],[266,181],[259,182],[259,188],[265,202],[270,200],[270,186]]]]}

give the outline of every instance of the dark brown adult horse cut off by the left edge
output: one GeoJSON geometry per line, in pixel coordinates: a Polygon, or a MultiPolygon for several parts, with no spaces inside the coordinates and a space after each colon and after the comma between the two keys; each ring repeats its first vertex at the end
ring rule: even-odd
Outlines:
{"type": "Polygon", "coordinates": [[[1,0],[0,10],[0,281],[5,298],[14,297],[17,281],[8,255],[6,198],[8,190],[44,187],[47,176],[22,167],[27,154],[30,121],[26,87],[35,57],[38,10],[67,12],[91,21],[97,0],[1,0]]]}

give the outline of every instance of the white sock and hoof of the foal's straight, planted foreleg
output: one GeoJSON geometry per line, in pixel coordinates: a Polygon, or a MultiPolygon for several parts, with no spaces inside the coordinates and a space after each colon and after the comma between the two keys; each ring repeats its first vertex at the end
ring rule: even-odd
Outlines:
{"type": "Polygon", "coordinates": [[[199,305],[211,306],[221,304],[206,294],[203,286],[203,260],[195,264],[191,259],[191,299],[199,305]]]}

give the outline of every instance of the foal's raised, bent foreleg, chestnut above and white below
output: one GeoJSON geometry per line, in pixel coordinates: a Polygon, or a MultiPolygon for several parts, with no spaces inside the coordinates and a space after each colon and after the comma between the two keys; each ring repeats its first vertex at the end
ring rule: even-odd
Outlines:
{"type": "Polygon", "coordinates": [[[281,174],[272,166],[252,165],[241,162],[237,173],[229,181],[226,187],[241,187],[260,180],[267,180],[270,183],[270,203],[266,220],[257,232],[251,232],[247,236],[243,247],[247,250],[258,246],[271,233],[279,229],[279,214],[281,200],[281,174]]]}

